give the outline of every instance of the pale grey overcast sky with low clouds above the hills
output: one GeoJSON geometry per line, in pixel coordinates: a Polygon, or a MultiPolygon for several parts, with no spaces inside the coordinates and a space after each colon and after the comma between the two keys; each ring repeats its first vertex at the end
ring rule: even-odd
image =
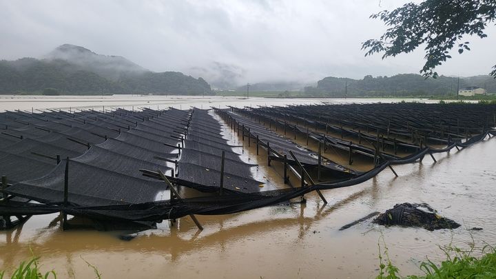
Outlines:
{"type": "MultiPolygon", "coordinates": [[[[422,50],[382,61],[364,57],[366,39],[386,29],[370,14],[404,0],[0,0],[0,59],[43,57],[58,45],[121,55],[149,70],[179,71],[207,81],[316,82],[418,73],[422,50]]],[[[496,28],[471,39],[471,52],[440,74],[487,74],[496,63],[496,28]]]]}

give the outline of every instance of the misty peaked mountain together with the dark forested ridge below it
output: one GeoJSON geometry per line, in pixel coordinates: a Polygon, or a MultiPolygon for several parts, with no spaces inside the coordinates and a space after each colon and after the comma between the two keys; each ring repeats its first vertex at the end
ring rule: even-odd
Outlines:
{"type": "Polygon", "coordinates": [[[151,72],[121,56],[61,45],[44,59],[0,61],[0,94],[212,94],[180,72],[151,72]],[[50,88],[50,90],[47,90],[50,88]]]}

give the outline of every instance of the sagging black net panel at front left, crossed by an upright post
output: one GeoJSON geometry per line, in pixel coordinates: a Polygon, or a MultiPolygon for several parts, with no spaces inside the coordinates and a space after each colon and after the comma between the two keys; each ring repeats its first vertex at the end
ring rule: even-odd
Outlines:
{"type": "MultiPolygon", "coordinates": [[[[42,203],[63,201],[65,160],[42,178],[8,187],[8,192],[42,203]]],[[[69,161],[68,201],[74,205],[146,203],[166,189],[165,183],[111,172],[77,161],[69,161]]]]}

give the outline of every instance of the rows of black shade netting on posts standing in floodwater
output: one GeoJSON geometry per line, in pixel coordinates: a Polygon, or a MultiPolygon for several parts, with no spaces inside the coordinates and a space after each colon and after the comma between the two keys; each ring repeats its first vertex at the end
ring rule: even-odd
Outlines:
{"type": "MultiPolygon", "coordinates": [[[[292,105],[0,114],[0,216],[61,212],[95,227],[154,227],[363,183],[393,165],[495,135],[496,106],[292,105]],[[227,139],[239,138],[242,145],[227,139]],[[242,156],[241,156],[242,155],[242,156]],[[256,174],[264,158],[280,177],[256,174]],[[355,169],[355,161],[369,168],[355,169]],[[363,164],[362,164],[363,165],[363,164]],[[118,226],[116,224],[119,224],[118,226]]],[[[302,199],[304,200],[304,199],[302,199]]]]}

